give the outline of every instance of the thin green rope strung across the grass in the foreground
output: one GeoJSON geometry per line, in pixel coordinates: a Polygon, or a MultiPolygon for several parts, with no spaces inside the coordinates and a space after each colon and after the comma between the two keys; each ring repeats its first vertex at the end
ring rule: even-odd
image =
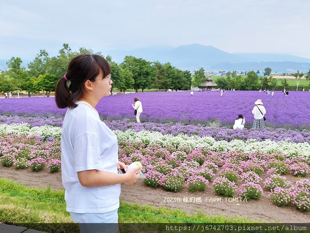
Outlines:
{"type": "MultiPolygon", "coordinates": [[[[20,196],[26,196],[26,197],[33,197],[33,198],[38,198],[38,199],[46,199],[46,200],[49,200],[49,201],[65,202],[63,200],[50,199],[50,198],[44,198],[44,197],[37,197],[37,196],[31,196],[31,195],[26,195],[26,194],[20,194],[20,193],[12,193],[12,192],[7,192],[7,191],[0,191],[0,192],[7,193],[7,194],[15,194],[15,195],[20,195],[20,196]]],[[[153,217],[162,217],[162,218],[167,218],[167,219],[173,219],[173,220],[178,220],[178,221],[183,221],[183,222],[201,223],[201,224],[207,224],[209,226],[221,226],[221,225],[212,224],[212,223],[196,222],[196,221],[191,221],[191,220],[185,220],[185,219],[179,219],[179,218],[173,218],[173,217],[166,217],[166,216],[160,216],[160,215],[149,214],[149,213],[141,213],[141,212],[135,212],[135,211],[130,211],[130,210],[122,210],[122,209],[118,209],[118,210],[119,211],[123,211],[123,212],[130,212],[130,213],[141,214],[141,215],[148,215],[148,216],[153,216],[153,217]]],[[[238,228],[234,228],[234,227],[232,227],[232,229],[239,230],[238,228]]],[[[241,230],[241,231],[251,231],[251,230],[241,230]]],[[[264,233],[262,231],[255,231],[255,230],[252,230],[251,232],[264,233]]]]}

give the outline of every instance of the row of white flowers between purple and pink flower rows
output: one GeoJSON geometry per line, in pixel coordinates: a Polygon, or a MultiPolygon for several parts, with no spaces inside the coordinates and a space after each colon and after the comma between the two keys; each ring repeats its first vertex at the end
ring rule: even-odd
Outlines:
{"type": "MultiPolygon", "coordinates": [[[[0,133],[17,134],[17,135],[40,135],[44,138],[54,137],[60,139],[62,128],[53,127],[50,125],[33,127],[29,124],[0,124],[0,133]]],[[[304,143],[292,143],[289,140],[274,142],[271,140],[256,141],[256,139],[248,139],[246,142],[234,139],[230,142],[227,141],[215,141],[212,137],[198,137],[187,135],[163,135],[160,132],[149,132],[142,130],[140,132],[134,132],[132,130],[120,131],[115,130],[117,139],[119,141],[142,141],[147,144],[157,143],[160,145],[172,144],[175,146],[190,146],[191,148],[205,147],[212,151],[230,151],[240,150],[245,153],[252,151],[261,151],[264,153],[283,153],[286,157],[302,156],[310,160],[310,145],[307,142],[304,143]]]]}

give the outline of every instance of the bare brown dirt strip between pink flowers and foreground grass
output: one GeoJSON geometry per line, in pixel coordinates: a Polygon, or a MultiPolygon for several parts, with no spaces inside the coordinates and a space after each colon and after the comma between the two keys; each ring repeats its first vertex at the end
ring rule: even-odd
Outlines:
{"type": "MultiPolygon", "coordinates": [[[[0,176],[15,180],[17,183],[29,187],[45,188],[48,184],[52,189],[63,189],[61,173],[49,173],[47,170],[32,172],[29,169],[16,170],[0,166],[0,176]]],[[[259,222],[283,222],[283,223],[308,223],[309,213],[303,213],[293,207],[277,207],[268,199],[265,192],[259,200],[240,202],[240,199],[232,201],[222,197],[218,199],[212,186],[209,185],[206,191],[188,193],[184,188],[181,192],[167,192],[162,188],[151,188],[143,185],[143,180],[138,180],[134,185],[122,184],[121,199],[126,202],[139,203],[140,205],[150,204],[156,207],[179,208],[188,213],[197,211],[206,214],[225,214],[227,216],[243,216],[248,219],[255,219],[259,222]],[[184,198],[188,202],[184,202],[184,198]],[[210,201],[211,199],[217,201],[210,201]],[[195,201],[194,201],[195,199],[195,201]],[[199,202],[201,199],[201,202],[199,202]],[[179,202],[177,201],[179,200],[179,202]],[[198,202],[197,202],[198,201],[198,202]]]]}

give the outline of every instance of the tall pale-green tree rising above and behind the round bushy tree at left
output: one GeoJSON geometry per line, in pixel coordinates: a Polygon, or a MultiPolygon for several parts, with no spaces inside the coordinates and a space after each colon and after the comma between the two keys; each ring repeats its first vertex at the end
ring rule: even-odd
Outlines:
{"type": "Polygon", "coordinates": [[[51,58],[45,49],[40,49],[40,53],[28,64],[29,74],[33,77],[44,75],[47,71],[48,62],[51,58]]]}

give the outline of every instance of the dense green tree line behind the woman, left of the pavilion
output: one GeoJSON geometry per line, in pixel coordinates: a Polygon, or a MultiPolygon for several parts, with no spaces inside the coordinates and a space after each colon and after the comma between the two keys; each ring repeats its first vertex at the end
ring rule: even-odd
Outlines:
{"type": "MultiPolygon", "coordinates": [[[[8,70],[0,74],[2,91],[25,90],[30,93],[43,91],[47,96],[55,91],[57,81],[66,74],[69,61],[78,54],[94,51],[84,47],[72,51],[69,44],[63,44],[59,55],[50,57],[46,50],[40,50],[28,69],[21,67],[20,57],[11,57],[7,62],[8,70]]],[[[102,56],[101,52],[96,53],[102,56]]],[[[189,90],[192,85],[190,71],[181,71],[169,62],[149,62],[142,58],[126,56],[121,64],[112,61],[111,56],[105,57],[111,65],[113,89],[125,92],[129,89],[161,89],[189,90]]]]}

